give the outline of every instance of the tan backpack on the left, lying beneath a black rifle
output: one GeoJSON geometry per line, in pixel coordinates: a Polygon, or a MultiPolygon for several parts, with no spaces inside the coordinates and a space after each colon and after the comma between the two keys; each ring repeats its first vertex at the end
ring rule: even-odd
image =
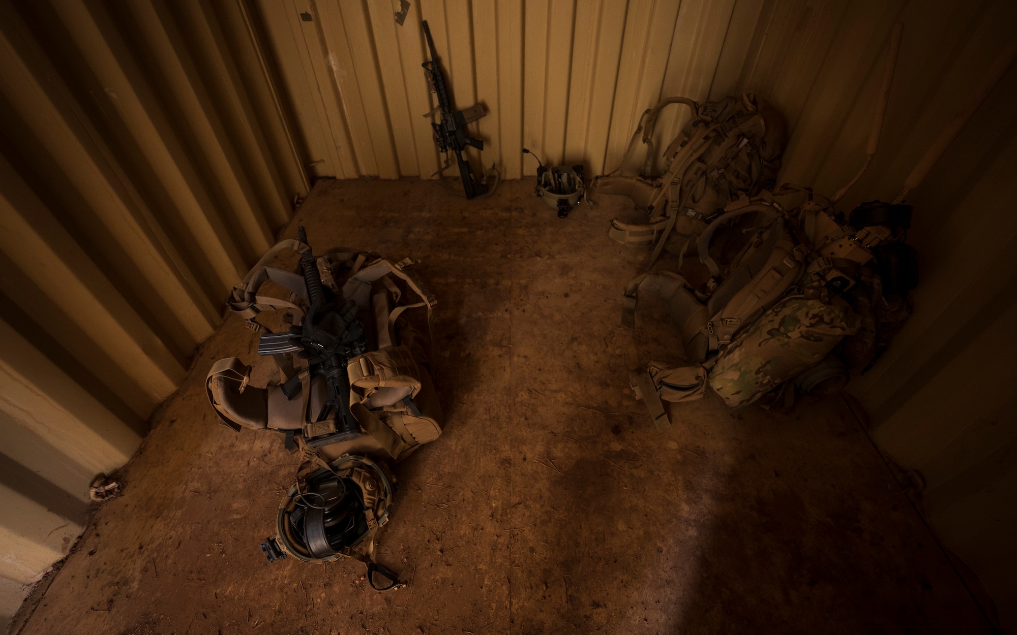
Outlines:
{"type": "MultiPolygon", "coordinates": [[[[300,273],[267,266],[281,252],[307,251],[299,241],[274,246],[244,279],[234,287],[229,306],[255,330],[265,330],[255,318],[264,311],[285,310],[285,323],[299,325],[308,310],[307,290],[300,273]],[[258,295],[272,280],[287,291],[286,299],[258,295]]],[[[220,360],[208,371],[205,387],[220,421],[241,428],[275,430],[287,447],[331,460],[357,454],[398,461],[441,434],[444,422],[430,376],[427,346],[409,321],[409,310],[426,312],[429,327],[436,304],[433,295],[409,270],[414,261],[398,263],[352,250],[332,250],[317,258],[323,284],[350,304],[350,313],[365,326],[367,351],[347,364],[350,412],[360,437],[328,442],[332,419],[319,421],[328,398],[324,377],[308,372],[308,364],[293,355],[274,355],[277,379],[265,386],[250,384],[251,368],[237,358],[220,360]],[[319,440],[324,440],[321,442],[319,440]]],[[[428,329],[429,330],[429,329],[428,329]]],[[[262,339],[263,341],[263,339],[262,339]]]]}

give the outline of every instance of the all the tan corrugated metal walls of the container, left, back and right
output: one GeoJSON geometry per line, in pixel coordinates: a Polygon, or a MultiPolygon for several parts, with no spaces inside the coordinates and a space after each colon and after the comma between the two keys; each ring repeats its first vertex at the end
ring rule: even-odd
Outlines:
{"type": "MultiPolygon", "coordinates": [[[[437,170],[421,17],[457,106],[490,111],[473,126],[505,178],[535,174],[524,146],[609,171],[659,98],[751,90],[793,132],[784,180],[828,193],[863,158],[901,19],[882,149],[845,208],[896,194],[1017,23],[1006,0],[411,0],[402,26],[399,8],[0,3],[0,596],[66,550],[87,481],[137,447],[308,177],[437,170]]],[[[1017,606],[1015,94],[1011,69],[912,194],[915,317],[854,384],[1001,608],[1017,606]]]]}

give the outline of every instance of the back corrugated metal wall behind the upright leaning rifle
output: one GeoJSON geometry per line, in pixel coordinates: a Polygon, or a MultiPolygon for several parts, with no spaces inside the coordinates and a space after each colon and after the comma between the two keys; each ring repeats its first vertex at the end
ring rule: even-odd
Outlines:
{"type": "MultiPolygon", "coordinates": [[[[919,31],[945,24],[960,6],[422,0],[411,3],[400,26],[393,16],[399,0],[255,1],[292,97],[304,163],[317,175],[391,179],[437,170],[431,119],[422,116],[434,106],[420,67],[427,59],[420,20],[427,19],[456,106],[480,102],[490,112],[473,126],[486,143],[485,166],[497,163],[505,178],[536,174],[524,146],[552,164],[610,171],[658,99],[749,90],[775,103],[799,130],[786,176],[826,178],[833,187],[857,169],[876,64],[893,21],[913,14],[906,38],[915,53],[938,42],[920,41],[919,31]]],[[[988,10],[982,3],[970,13],[988,10]]],[[[675,108],[661,121],[658,134],[669,140],[686,113],[675,108]]]]}

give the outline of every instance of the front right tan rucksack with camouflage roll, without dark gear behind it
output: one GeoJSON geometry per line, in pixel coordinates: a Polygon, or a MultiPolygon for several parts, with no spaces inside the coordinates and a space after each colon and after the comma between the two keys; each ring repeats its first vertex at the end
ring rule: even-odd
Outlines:
{"type": "Polygon", "coordinates": [[[658,427],[669,423],[662,401],[699,398],[709,384],[731,407],[753,403],[859,330],[858,316],[837,294],[845,276],[864,275],[862,265],[872,259],[865,245],[878,242],[864,239],[882,230],[854,230],[812,201],[788,212],[772,194],[762,194],[728,205],[699,237],[699,260],[713,276],[705,288],[693,289],[669,272],[646,273],[627,285],[622,325],[635,327],[640,295],[667,302],[691,364],[652,362],[631,373],[658,427]],[[711,242],[721,231],[743,234],[739,219],[752,220],[754,234],[721,266],[711,242]],[[854,240],[859,235],[860,242],[854,240]]]}

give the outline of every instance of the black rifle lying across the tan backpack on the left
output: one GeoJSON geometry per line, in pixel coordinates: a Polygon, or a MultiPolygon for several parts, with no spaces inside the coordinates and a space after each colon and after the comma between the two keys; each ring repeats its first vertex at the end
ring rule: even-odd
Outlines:
{"type": "MultiPolygon", "coordinates": [[[[299,228],[300,242],[307,245],[307,234],[299,228]]],[[[367,350],[364,327],[357,319],[357,305],[352,300],[342,308],[321,283],[321,273],[317,259],[307,251],[300,257],[300,269],[307,287],[308,309],[301,326],[294,326],[289,333],[262,335],[258,342],[258,355],[282,355],[296,353],[307,360],[311,376],[320,373],[328,386],[328,399],[321,411],[313,420],[315,423],[327,421],[335,411],[336,431],[306,439],[308,447],[319,447],[330,443],[349,441],[360,436],[360,425],[350,411],[350,379],[346,374],[347,362],[367,350]]],[[[300,395],[299,374],[283,385],[283,393],[288,399],[300,395]]],[[[312,416],[308,412],[308,416],[312,416]]]]}

